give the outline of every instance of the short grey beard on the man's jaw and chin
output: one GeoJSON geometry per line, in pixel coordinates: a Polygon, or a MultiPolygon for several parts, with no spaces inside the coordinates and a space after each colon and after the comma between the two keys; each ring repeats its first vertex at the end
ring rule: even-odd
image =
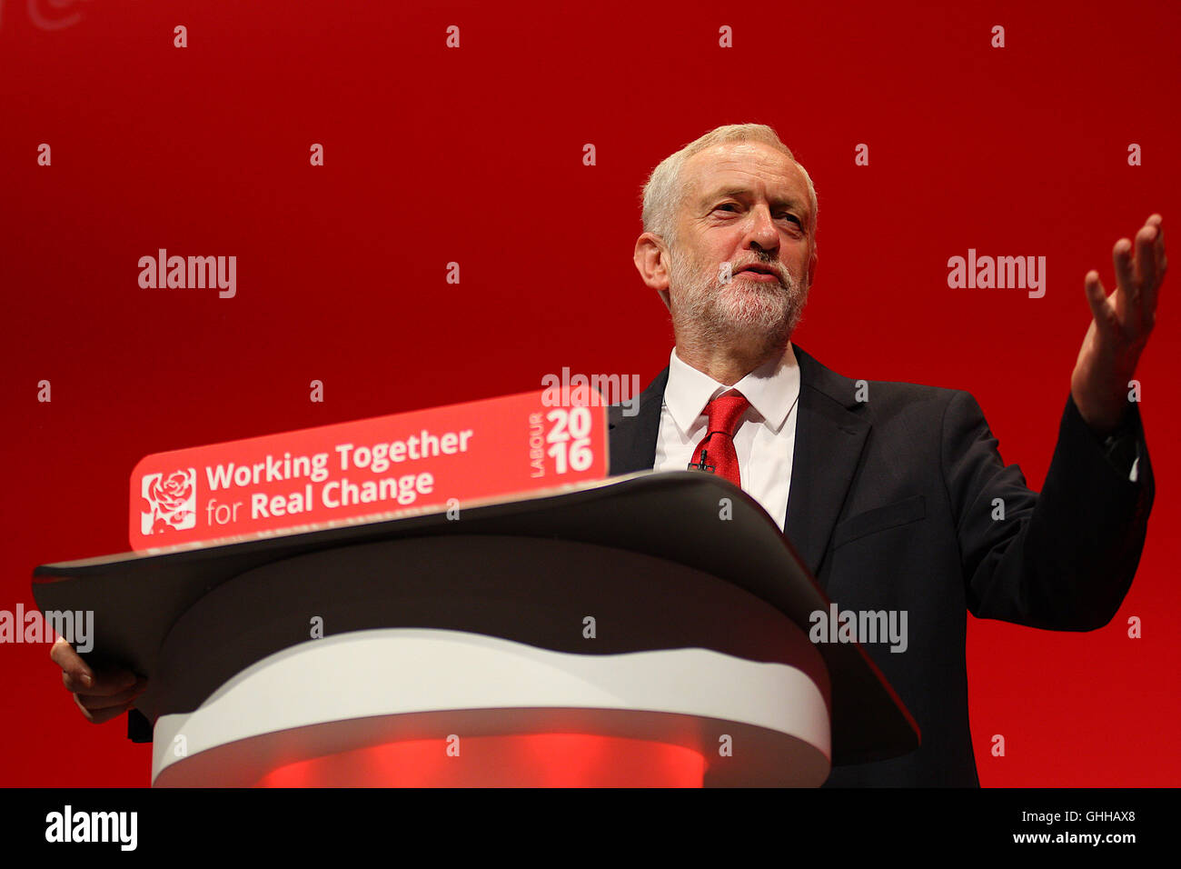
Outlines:
{"type": "Polygon", "coordinates": [[[787,346],[803,316],[808,291],[784,272],[782,285],[737,277],[723,284],[716,272],[697,264],[686,267],[684,257],[673,257],[668,287],[673,330],[691,342],[737,343],[758,355],[787,346]]]}

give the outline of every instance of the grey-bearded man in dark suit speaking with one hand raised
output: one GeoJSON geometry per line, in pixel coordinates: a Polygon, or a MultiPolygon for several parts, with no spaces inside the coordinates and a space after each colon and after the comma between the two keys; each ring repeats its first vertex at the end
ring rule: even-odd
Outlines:
{"type": "Polygon", "coordinates": [[[766,127],[723,127],[645,187],[635,265],[672,314],[670,367],[612,408],[611,473],[712,468],[784,530],[841,610],[905,614],[905,650],[867,651],[922,731],[916,751],[833,785],[979,784],[966,612],[1094,630],[1140,560],[1154,482],[1128,381],[1164,274],[1159,215],[1121,239],[1079,351],[1042,493],[1005,467],[967,393],[852,381],[795,346],[816,265],[816,195],[766,127]]]}

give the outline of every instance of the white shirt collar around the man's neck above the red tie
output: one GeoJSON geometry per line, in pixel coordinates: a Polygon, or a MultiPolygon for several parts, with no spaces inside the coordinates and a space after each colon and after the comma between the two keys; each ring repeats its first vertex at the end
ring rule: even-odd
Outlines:
{"type": "Polygon", "coordinates": [[[746,396],[755,411],[772,432],[778,433],[800,397],[800,364],[791,342],[788,342],[782,356],[763,363],[733,387],[718,383],[707,374],[698,371],[677,356],[677,348],[672,349],[668,355],[665,404],[683,435],[687,436],[697,417],[705,413],[706,404],[730,389],[737,389],[746,396]]]}

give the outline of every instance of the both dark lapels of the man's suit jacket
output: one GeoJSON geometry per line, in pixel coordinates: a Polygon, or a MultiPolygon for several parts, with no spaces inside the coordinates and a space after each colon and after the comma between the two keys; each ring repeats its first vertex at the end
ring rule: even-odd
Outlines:
{"type": "MultiPolygon", "coordinates": [[[[784,534],[817,576],[870,424],[853,381],[795,344],[792,350],[800,364],[800,403],[784,534]]],[[[640,395],[635,416],[624,416],[619,406],[608,409],[612,475],[652,469],[667,384],[666,368],[640,395]]]]}

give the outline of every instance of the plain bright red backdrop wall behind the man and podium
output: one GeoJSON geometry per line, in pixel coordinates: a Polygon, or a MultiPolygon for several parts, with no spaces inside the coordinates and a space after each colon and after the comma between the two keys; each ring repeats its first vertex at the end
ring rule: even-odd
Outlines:
{"type": "MultiPolygon", "coordinates": [[[[631,262],[639,189],[724,123],[774,125],[816,183],[797,343],[848,376],[971,390],[1040,486],[1083,275],[1114,288],[1111,246],[1153,212],[1181,257],[1181,7],[557,6],[0,0],[0,609],[33,605],[37,564],[126,550],[144,454],[534,389],[563,365],[646,384],[672,337],[631,262]],[[139,288],[159,247],[236,255],[236,298],[139,288]],[[950,290],[968,247],[1045,255],[1045,297],[950,290]]],[[[1084,635],[972,621],[985,785],[1179,783],[1176,284],[1141,363],[1157,498],[1120,614],[1084,635]]],[[[122,718],[86,724],[47,647],[0,646],[0,784],[148,783],[149,747],[122,718]]]]}

